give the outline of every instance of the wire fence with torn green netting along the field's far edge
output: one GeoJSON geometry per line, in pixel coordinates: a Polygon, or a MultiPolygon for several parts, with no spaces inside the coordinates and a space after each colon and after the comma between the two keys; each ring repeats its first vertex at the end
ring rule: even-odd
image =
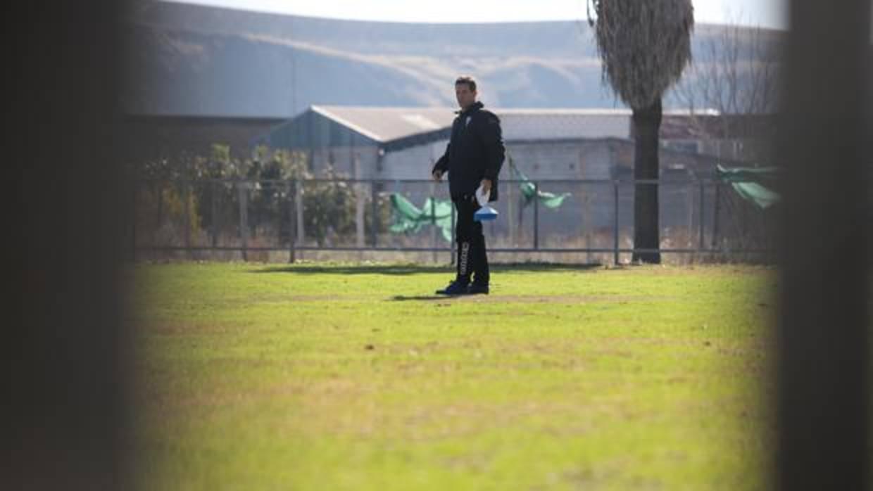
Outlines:
{"type": "MultiPolygon", "coordinates": [[[[627,263],[635,185],[659,187],[663,260],[766,262],[768,212],[718,181],[499,181],[497,262],[627,263]]],[[[433,181],[137,181],[134,259],[450,261],[454,208],[433,181]],[[438,211],[437,211],[438,209],[438,211]]]]}

